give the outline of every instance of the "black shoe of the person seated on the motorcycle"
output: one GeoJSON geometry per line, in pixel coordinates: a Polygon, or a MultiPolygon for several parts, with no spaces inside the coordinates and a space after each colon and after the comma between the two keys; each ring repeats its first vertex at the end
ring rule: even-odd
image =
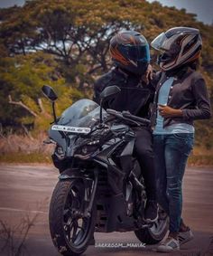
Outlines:
{"type": "Polygon", "coordinates": [[[154,223],[158,219],[158,204],[156,201],[147,200],[144,211],[144,221],[146,223],[154,223]]]}

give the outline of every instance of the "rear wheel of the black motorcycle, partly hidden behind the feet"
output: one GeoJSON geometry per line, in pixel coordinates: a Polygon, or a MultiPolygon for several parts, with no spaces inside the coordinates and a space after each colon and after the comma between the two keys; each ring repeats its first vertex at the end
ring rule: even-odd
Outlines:
{"type": "Polygon", "coordinates": [[[159,210],[159,218],[152,227],[134,231],[136,237],[145,244],[155,244],[161,242],[169,229],[169,217],[159,210]]]}

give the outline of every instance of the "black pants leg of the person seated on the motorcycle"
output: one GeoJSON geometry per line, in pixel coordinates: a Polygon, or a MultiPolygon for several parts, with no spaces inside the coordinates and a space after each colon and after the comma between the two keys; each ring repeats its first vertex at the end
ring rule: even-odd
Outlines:
{"type": "Polygon", "coordinates": [[[153,134],[149,128],[135,128],[134,156],[144,176],[147,199],[156,200],[156,181],[153,165],[153,134]]]}

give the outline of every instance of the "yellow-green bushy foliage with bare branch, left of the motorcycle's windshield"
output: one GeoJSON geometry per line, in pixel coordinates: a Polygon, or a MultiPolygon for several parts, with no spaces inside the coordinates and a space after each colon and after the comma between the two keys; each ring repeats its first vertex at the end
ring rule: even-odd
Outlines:
{"type": "Polygon", "coordinates": [[[33,124],[38,129],[46,128],[52,118],[50,103],[42,96],[43,84],[50,84],[58,93],[59,113],[69,107],[73,100],[83,96],[75,87],[66,84],[58,71],[58,63],[50,54],[34,52],[24,57],[2,58],[0,122],[3,125],[33,124]]]}

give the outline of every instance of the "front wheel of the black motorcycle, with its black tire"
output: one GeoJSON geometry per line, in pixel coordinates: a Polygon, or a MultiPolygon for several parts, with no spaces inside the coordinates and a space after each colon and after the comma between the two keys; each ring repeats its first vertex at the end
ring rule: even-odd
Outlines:
{"type": "Polygon", "coordinates": [[[85,185],[81,179],[59,181],[51,196],[51,239],[62,255],[77,256],[83,253],[93,236],[96,210],[92,210],[90,217],[83,216],[84,196],[85,185]]]}

